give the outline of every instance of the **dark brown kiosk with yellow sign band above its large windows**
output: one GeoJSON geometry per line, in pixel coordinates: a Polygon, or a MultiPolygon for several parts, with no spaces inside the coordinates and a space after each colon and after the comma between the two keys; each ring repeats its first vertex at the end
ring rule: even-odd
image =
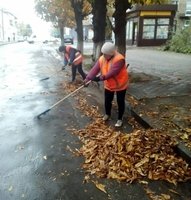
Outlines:
{"type": "Polygon", "coordinates": [[[169,39],[174,29],[177,5],[135,5],[127,11],[128,45],[159,46],[169,39]]]}

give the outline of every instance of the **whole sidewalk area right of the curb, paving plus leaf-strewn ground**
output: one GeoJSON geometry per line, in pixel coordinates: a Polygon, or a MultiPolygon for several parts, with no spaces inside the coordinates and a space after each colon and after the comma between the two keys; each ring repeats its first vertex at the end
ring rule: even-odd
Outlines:
{"type": "Polygon", "coordinates": [[[133,112],[143,125],[176,137],[178,153],[191,163],[191,55],[145,48],[127,55],[133,112]]]}

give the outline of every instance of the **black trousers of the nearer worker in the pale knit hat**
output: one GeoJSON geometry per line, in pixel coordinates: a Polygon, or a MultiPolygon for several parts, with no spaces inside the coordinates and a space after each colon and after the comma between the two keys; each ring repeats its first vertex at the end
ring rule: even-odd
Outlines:
{"type": "MultiPolygon", "coordinates": [[[[112,108],[112,101],[114,94],[115,92],[105,89],[105,113],[107,115],[111,115],[111,108],[112,108]]],[[[122,120],[123,114],[125,112],[125,94],[126,94],[126,89],[116,92],[119,120],[122,120]]]]}

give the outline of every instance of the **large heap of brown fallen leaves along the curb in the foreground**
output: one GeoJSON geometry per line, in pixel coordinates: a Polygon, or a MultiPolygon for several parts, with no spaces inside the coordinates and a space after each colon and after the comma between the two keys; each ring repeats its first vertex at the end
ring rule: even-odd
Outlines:
{"type": "Polygon", "coordinates": [[[140,178],[166,180],[176,184],[191,179],[191,168],[173,151],[176,142],[159,130],[135,130],[130,134],[106,125],[96,106],[78,98],[79,108],[92,123],[74,131],[83,142],[78,151],[85,158],[83,168],[98,177],[133,182],[140,178]]]}

